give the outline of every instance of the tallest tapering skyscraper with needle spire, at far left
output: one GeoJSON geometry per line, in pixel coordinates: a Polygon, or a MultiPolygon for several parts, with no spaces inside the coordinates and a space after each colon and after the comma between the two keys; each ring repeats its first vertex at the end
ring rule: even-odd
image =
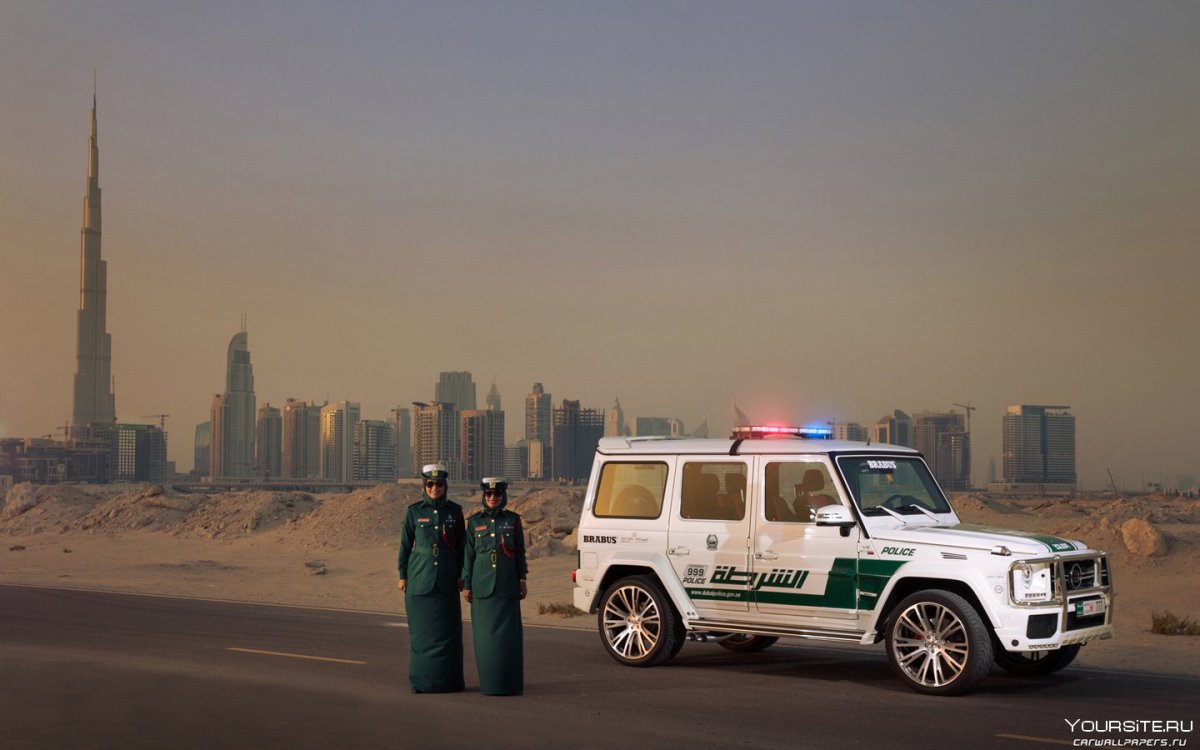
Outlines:
{"type": "Polygon", "coordinates": [[[108,334],[108,263],[100,257],[100,145],[96,91],[91,92],[88,186],[83,198],[79,247],[79,312],[76,313],[74,433],[86,425],[116,422],[113,395],[113,337],[108,334]]]}

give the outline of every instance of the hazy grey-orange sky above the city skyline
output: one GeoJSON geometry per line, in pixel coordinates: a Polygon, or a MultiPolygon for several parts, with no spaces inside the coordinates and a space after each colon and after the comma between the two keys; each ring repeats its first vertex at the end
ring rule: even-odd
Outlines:
{"type": "Polygon", "coordinates": [[[0,8],[0,436],[70,419],[92,71],[121,421],[493,378],[523,424],[1070,404],[1200,474],[1200,4],[0,8]]]}

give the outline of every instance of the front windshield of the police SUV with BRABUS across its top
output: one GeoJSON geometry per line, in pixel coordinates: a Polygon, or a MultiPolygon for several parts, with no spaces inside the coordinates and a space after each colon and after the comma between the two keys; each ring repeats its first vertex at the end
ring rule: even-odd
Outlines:
{"type": "Polygon", "coordinates": [[[925,462],[901,456],[841,456],[838,467],[850,494],[864,516],[950,512],[946,496],[929,474],[925,462]]]}

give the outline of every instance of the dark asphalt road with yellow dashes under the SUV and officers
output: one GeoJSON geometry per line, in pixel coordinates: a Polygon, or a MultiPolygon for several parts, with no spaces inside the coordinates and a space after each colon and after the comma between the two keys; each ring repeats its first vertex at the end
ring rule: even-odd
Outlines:
{"type": "Polygon", "coordinates": [[[526,695],[486,697],[466,635],[468,691],[412,695],[398,616],[0,586],[0,748],[1200,746],[1198,679],[997,671],[935,698],[881,649],[689,643],[635,670],[595,631],[527,628],[526,695]]]}

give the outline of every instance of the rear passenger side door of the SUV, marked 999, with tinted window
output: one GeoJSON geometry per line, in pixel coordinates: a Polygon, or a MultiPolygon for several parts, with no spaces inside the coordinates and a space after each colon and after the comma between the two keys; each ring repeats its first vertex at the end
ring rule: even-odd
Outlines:
{"type": "Polygon", "coordinates": [[[701,617],[750,608],[746,458],[682,462],[667,553],[701,617]]]}

